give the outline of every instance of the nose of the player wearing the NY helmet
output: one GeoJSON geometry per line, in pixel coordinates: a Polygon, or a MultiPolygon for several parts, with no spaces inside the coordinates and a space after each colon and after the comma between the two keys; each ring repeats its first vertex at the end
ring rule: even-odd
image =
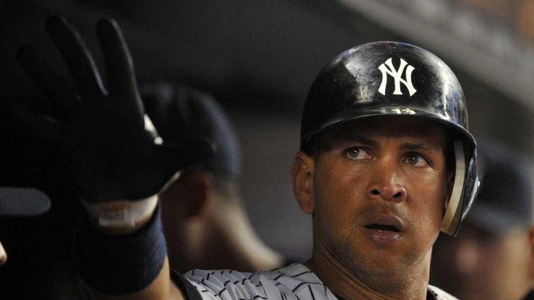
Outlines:
{"type": "Polygon", "coordinates": [[[370,200],[403,202],[406,200],[406,188],[402,184],[399,172],[393,161],[384,160],[374,168],[371,182],[367,188],[370,200]]]}

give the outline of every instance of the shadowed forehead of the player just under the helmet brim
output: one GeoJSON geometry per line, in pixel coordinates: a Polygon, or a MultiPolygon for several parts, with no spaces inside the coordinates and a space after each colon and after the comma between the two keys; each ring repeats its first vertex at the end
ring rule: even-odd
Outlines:
{"type": "Polygon", "coordinates": [[[380,138],[410,140],[416,143],[445,146],[447,131],[436,121],[408,116],[372,116],[332,127],[322,141],[341,142],[380,138]],[[326,139],[326,140],[325,140],[326,139]]]}

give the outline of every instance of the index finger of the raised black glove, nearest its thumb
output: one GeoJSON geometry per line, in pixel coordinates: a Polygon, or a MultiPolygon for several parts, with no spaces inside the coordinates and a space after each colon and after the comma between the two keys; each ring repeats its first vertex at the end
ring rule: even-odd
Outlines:
{"type": "Polygon", "coordinates": [[[121,28],[113,19],[101,19],[96,24],[96,34],[107,68],[110,96],[117,96],[121,100],[139,100],[132,57],[121,28]]]}

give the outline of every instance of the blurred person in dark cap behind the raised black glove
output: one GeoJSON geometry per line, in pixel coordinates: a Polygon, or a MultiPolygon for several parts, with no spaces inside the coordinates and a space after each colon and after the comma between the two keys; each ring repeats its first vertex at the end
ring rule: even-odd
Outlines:
{"type": "Polygon", "coordinates": [[[284,265],[282,255],[264,244],[248,219],[239,191],[241,146],[216,100],[171,82],[144,85],[141,94],[164,143],[205,139],[215,149],[215,155],[182,170],[160,194],[171,267],[178,272],[193,267],[255,272],[284,265]]]}

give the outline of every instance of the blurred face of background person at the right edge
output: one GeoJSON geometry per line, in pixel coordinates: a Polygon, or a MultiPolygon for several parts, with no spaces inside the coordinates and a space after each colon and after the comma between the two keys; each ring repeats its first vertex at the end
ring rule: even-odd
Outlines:
{"type": "Polygon", "coordinates": [[[466,222],[436,244],[433,278],[466,300],[519,300],[533,283],[528,229],[495,233],[466,222]]]}

